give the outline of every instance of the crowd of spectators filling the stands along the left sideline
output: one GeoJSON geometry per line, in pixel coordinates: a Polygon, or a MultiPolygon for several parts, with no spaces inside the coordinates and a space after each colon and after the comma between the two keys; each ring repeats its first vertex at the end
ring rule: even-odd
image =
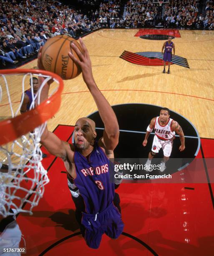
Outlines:
{"type": "Polygon", "coordinates": [[[0,62],[16,64],[37,54],[50,37],[70,34],[78,38],[101,27],[100,20],[90,20],[81,10],[53,0],[16,0],[0,2],[0,62]]]}

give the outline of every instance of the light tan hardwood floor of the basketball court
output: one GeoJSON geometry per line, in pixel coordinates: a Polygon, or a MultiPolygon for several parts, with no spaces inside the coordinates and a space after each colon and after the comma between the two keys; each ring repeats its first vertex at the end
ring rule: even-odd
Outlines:
{"type": "MultiPolygon", "coordinates": [[[[174,64],[171,65],[171,74],[163,74],[163,67],[131,64],[119,58],[125,50],[133,53],[161,51],[163,40],[135,37],[137,31],[103,29],[83,38],[99,89],[111,105],[135,102],[166,106],[189,119],[200,137],[213,138],[212,123],[209,121],[214,116],[213,31],[179,31],[181,38],[173,39],[176,55],[186,58],[190,69],[174,64]]],[[[35,60],[23,68],[36,65],[35,60]]],[[[77,118],[96,111],[81,75],[64,81],[64,84],[62,105],[55,118],[48,123],[50,130],[58,123],[73,125],[77,118]]],[[[10,83],[10,88],[16,95],[14,100],[19,101],[15,79],[10,83]]],[[[3,109],[0,109],[1,116],[4,116],[3,109]]]]}

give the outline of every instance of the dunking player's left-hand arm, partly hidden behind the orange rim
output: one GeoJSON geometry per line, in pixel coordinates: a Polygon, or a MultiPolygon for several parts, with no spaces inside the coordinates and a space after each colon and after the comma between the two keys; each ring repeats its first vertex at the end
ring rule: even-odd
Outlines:
{"type": "MultiPolygon", "coordinates": [[[[42,62],[41,62],[41,48],[38,53],[38,68],[44,69],[42,62]]],[[[39,85],[42,84],[44,81],[43,77],[39,77],[39,85]]],[[[40,95],[40,102],[43,102],[48,98],[48,92],[50,88],[50,82],[46,83],[43,87],[43,90],[41,91],[40,95]]],[[[48,150],[48,152],[54,156],[58,156],[62,159],[66,159],[66,148],[69,147],[69,144],[65,141],[61,141],[60,138],[58,138],[55,134],[48,131],[47,126],[45,127],[45,130],[41,136],[40,143],[48,150]]]]}

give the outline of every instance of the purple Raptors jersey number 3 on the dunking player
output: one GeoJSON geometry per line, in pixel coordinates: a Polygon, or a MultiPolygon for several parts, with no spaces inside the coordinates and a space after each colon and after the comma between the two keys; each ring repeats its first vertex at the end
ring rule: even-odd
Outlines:
{"type": "Polygon", "coordinates": [[[88,159],[75,149],[74,163],[76,179],[74,184],[86,205],[86,213],[103,212],[114,197],[114,184],[110,179],[109,159],[95,143],[88,159]]]}

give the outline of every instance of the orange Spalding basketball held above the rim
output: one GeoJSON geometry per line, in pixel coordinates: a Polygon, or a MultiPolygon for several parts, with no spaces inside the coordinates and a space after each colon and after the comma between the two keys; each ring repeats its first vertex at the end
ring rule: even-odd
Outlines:
{"type": "Polygon", "coordinates": [[[72,79],[81,73],[81,68],[68,56],[68,52],[78,58],[76,52],[70,48],[73,42],[83,53],[81,45],[70,36],[60,35],[50,38],[42,49],[41,60],[45,70],[58,74],[62,79],[72,79]]]}

